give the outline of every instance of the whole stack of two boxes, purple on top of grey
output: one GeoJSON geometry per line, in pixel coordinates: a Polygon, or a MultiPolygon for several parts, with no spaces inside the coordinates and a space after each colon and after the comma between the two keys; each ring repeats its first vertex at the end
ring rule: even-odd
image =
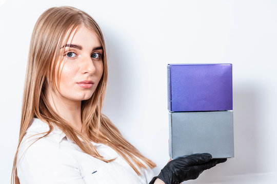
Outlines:
{"type": "Polygon", "coordinates": [[[169,154],[234,156],[232,64],[168,64],[169,154]]]}

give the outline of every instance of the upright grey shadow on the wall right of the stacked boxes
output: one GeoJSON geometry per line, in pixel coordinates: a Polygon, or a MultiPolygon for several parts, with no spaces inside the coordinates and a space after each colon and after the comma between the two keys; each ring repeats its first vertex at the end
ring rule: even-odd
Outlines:
{"type": "Polygon", "coordinates": [[[262,159],[259,156],[258,130],[258,86],[241,85],[234,90],[234,151],[230,160],[229,175],[259,173],[262,159]]]}

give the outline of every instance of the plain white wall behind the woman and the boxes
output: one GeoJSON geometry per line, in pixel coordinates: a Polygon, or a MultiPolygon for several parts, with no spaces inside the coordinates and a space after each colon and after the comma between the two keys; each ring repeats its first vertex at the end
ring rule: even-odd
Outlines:
{"type": "Polygon", "coordinates": [[[0,0],[0,183],[17,146],[30,36],[52,6],[96,19],[109,63],[104,112],[151,158],[168,157],[167,63],[233,63],[235,157],[184,183],[276,183],[277,1],[0,0]]]}

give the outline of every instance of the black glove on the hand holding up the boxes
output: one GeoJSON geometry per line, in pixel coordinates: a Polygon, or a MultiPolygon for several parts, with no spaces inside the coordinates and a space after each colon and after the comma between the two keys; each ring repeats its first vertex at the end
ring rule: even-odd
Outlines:
{"type": "Polygon", "coordinates": [[[166,184],[179,184],[189,179],[196,179],[204,170],[224,163],[226,160],[227,158],[212,159],[209,153],[177,157],[167,163],[160,174],[155,176],[149,184],[153,184],[156,178],[160,178],[166,184]]]}

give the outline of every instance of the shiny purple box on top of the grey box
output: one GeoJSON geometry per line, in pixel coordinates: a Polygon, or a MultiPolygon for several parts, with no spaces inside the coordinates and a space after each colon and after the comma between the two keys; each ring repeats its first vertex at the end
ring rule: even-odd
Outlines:
{"type": "Polygon", "coordinates": [[[168,64],[168,110],[232,110],[232,64],[168,64]]]}

